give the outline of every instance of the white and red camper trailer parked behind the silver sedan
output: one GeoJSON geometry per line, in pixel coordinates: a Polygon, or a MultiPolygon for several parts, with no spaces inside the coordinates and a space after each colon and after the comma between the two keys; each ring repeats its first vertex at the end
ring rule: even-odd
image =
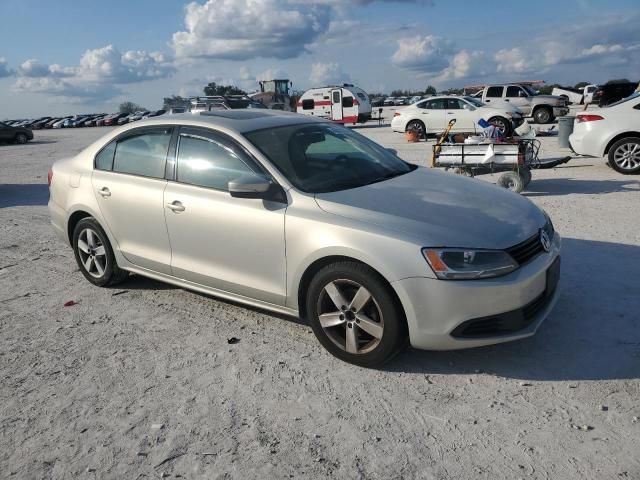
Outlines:
{"type": "Polygon", "coordinates": [[[307,90],[298,100],[297,112],[355,125],[371,118],[371,102],[364,90],[345,83],[307,90]]]}

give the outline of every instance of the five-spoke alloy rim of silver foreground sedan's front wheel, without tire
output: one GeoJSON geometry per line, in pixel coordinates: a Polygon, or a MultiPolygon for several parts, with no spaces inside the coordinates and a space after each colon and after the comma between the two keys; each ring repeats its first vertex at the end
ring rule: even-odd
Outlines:
{"type": "Polygon", "coordinates": [[[318,298],[318,320],[325,334],[351,354],[373,351],[384,334],[382,310],[371,293],[353,280],[334,280],[318,298]]]}

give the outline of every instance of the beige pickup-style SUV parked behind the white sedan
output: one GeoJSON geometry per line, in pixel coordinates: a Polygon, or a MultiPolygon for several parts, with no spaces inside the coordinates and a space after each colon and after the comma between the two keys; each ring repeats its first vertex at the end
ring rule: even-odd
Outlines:
{"type": "Polygon", "coordinates": [[[518,107],[526,117],[533,117],[537,123],[551,123],[556,117],[569,113],[566,101],[553,95],[538,95],[528,85],[506,84],[487,85],[479,100],[487,105],[505,103],[518,107]]]}

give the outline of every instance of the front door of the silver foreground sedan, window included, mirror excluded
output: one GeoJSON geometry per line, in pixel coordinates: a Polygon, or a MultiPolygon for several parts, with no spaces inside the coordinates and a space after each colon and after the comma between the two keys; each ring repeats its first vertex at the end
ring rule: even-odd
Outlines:
{"type": "Polygon", "coordinates": [[[172,274],[284,305],[286,205],[234,198],[228,182],[261,167],[233,140],[181,128],[176,181],[164,192],[172,274]]]}

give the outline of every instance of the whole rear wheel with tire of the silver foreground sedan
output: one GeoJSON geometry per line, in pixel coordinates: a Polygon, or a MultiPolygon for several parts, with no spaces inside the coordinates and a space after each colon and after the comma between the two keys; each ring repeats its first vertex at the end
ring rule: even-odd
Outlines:
{"type": "Polygon", "coordinates": [[[73,252],[80,271],[94,285],[116,285],[129,275],[118,267],[109,238],[93,217],[83,218],[74,228],[73,252]]]}

